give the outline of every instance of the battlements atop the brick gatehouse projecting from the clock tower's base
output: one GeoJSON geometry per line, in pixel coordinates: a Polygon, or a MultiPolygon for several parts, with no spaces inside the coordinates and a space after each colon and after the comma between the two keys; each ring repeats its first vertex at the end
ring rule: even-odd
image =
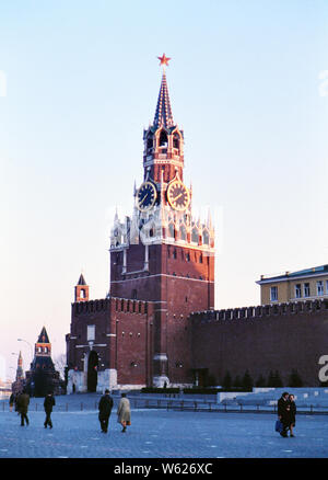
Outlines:
{"type": "Polygon", "coordinates": [[[87,315],[109,311],[110,306],[113,306],[115,311],[144,315],[149,310],[149,301],[143,300],[110,297],[99,300],[75,301],[72,304],[72,309],[74,315],[87,315]]]}

